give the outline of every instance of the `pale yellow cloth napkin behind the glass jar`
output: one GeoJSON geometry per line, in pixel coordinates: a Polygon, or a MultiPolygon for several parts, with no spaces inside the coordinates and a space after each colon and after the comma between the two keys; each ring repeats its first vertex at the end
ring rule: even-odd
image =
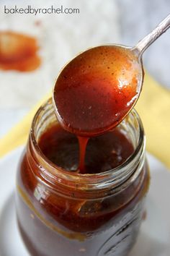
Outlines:
{"type": "MultiPolygon", "coordinates": [[[[0,157],[27,141],[35,111],[50,96],[51,92],[0,140],[0,157]]],[[[170,168],[170,91],[146,74],[135,108],[146,131],[147,150],[170,168]]]]}

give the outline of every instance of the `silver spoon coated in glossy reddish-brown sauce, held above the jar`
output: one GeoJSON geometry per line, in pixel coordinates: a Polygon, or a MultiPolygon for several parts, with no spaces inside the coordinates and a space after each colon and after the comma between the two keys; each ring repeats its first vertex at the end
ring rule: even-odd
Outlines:
{"type": "Polygon", "coordinates": [[[143,85],[143,52],[170,27],[170,14],[133,47],[97,46],[71,60],[53,89],[58,121],[68,132],[107,132],[135,105],[143,85]]]}

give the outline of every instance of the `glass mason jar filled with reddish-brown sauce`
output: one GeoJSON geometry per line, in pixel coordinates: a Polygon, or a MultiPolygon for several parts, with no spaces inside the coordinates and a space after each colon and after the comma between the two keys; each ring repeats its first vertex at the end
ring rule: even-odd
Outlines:
{"type": "Polygon", "coordinates": [[[31,255],[125,256],[135,243],[149,185],[145,136],[135,110],[120,129],[134,153],[99,174],[63,170],[38,140],[56,122],[51,99],[35,114],[17,172],[17,220],[31,255]]]}

